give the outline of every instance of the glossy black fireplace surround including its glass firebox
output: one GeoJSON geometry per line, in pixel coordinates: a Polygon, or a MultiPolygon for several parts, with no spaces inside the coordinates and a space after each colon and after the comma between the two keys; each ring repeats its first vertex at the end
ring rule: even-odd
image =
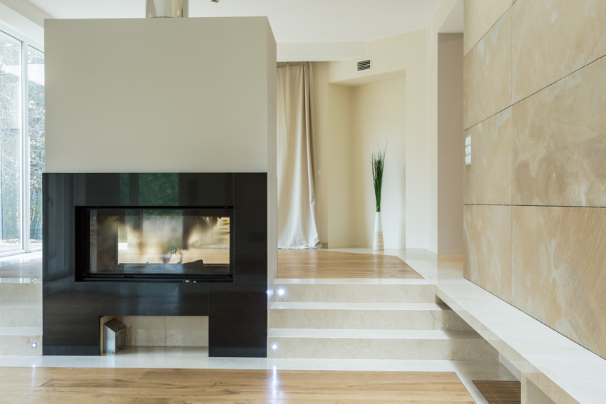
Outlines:
{"type": "Polygon", "coordinates": [[[267,356],[267,174],[43,175],[43,355],[102,316],[208,316],[210,356],[267,356]]]}

